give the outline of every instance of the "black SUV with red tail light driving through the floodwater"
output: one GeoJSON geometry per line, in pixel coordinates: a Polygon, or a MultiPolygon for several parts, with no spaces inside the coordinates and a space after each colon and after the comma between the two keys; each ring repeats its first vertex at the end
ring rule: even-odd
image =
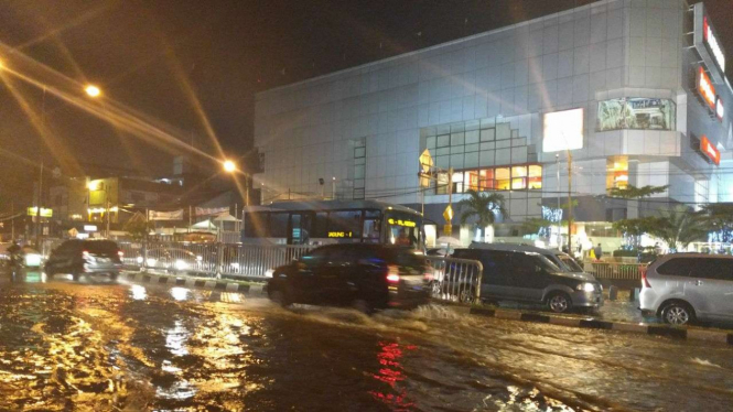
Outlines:
{"type": "Polygon", "coordinates": [[[330,245],[274,269],[267,291],[291,303],[375,308],[416,307],[429,302],[431,275],[421,254],[380,245],[330,245]]]}

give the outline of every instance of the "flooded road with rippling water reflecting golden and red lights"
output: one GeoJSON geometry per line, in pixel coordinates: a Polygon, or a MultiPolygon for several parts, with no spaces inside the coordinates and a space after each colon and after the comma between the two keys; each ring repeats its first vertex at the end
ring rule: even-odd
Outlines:
{"type": "Polygon", "coordinates": [[[465,317],[0,279],[0,410],[724,411],[733,349],[465,317]]]}

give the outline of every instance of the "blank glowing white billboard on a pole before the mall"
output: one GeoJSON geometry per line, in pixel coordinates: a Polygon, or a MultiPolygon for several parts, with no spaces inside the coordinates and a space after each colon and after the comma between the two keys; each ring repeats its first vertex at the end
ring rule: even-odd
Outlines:
{"type": "Polygon", "coordinates": [[[542,152],[583,148],[583,109],[545,113],[542,152]]]}

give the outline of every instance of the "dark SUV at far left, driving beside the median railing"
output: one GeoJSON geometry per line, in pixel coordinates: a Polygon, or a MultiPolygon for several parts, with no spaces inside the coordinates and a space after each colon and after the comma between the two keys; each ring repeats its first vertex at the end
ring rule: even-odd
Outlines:
{"type": "Polygon", "coordinates": [[[121,257],[111,240],[66,240],[51,252],[44,271],[50,277],[71,273],[75,281],[83,273],[107,273],[115,280],[122,268],[121,257]]]}

